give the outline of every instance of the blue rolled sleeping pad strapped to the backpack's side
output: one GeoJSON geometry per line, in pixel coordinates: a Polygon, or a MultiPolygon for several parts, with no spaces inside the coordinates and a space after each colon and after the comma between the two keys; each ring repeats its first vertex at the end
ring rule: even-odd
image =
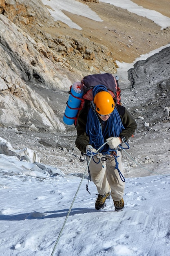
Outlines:
{"type": "Polygon", "coordinates": [[[79,106],[81,104],[81,99],[83,97],[84,90],[81,88],[80,82],[73,83],[71,87],[71,94],[68,98],[66,110],[64,112],[63,121],[65,124],[74,124],[75,117],[79,111],[79,106]]]}

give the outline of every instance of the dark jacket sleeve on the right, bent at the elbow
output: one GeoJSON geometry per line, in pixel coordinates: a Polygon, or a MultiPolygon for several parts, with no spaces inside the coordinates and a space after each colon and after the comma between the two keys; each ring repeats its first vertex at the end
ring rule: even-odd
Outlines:
{"type": "Polygon", "coordinates": [[[120,117],[121,117],[122,124],[124,126],[124,130],[122,130],[119,136],[124,136],[127,141],[135,132],[137,128],[137,123],[126,108],[124,108],[123,115],[121,115],[120,113],[120,117]]]}

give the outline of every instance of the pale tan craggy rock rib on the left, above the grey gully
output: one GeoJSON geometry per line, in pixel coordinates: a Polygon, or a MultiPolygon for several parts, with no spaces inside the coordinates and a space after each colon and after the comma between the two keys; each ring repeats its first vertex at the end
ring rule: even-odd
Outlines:
{"type": "MultiPolygon", "coordinates": [[[[3,15],[0,15],[0,26],[1,52],[9,55],[9,68],[14,73],[25,82],[39,81],[42,86],[48,85],[53,90],[60,86],[65,90],[68,88],[70,81],[66,76],[64,81],[64,76],[57,74],[58,63],[53,63],[46,57],[47,49],[44,45],[36,43],[3,15]],[[60,84],[60,80],[64,82],[60,84]]],[[[1,60],[3,61],[3,58],[1,60]]]]}

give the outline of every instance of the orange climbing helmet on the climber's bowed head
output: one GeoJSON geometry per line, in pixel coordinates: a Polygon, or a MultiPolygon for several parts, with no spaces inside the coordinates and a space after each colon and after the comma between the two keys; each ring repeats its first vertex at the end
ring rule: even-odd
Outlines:
{"type": "Polygon", "coordinates": [[[98,92],[93,100],[95,110],[99,115],[109,115],[115,108],[115,102],[109,92],[98,92]]]}

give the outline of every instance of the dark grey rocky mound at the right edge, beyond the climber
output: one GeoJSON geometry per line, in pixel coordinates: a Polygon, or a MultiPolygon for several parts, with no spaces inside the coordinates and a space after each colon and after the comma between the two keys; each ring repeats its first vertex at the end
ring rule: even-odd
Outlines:
{"type": "Polygon", "coordinates": [[[128,70],[133,103],[147,123],[170,120],[170,47],[145,61],[137,61],[128,70]],[[141,110],[141,111],[140,111],[141,110]]]}

